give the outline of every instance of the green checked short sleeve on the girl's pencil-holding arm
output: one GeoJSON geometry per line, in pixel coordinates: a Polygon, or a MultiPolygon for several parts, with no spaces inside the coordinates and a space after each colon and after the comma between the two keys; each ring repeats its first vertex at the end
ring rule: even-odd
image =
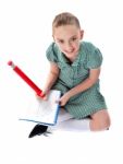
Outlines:
{"type": "Polygon", "coordinates": [[[49,61],[57,62],[57,52],[54,51],[54,43],[52,43],[46,50],[46,56],[49,61]]]}

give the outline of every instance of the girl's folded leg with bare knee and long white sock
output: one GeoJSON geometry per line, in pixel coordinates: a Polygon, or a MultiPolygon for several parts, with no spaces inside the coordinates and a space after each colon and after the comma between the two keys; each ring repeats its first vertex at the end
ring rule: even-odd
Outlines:
{"type": "Polygon", "coordinates": [[[60,110],[58,118],[58,124],[53,129],[61,130],[75,130],[75,131],[100,131],[106,130],[110,127],[109,114],[106,109],[99,110],[90,116],[90,118],[85,119],[74,119],[69,113],[64,109],[60,110]]]}

